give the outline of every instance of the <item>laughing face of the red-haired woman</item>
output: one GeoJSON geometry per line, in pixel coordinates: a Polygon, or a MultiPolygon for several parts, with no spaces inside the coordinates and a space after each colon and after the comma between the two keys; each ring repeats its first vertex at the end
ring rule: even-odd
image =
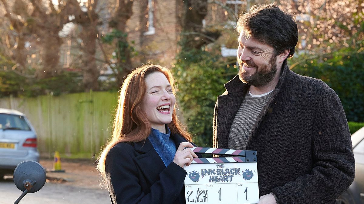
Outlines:
{"type": "Polygon", "coordinates": [[[165,132],[165,124],[172,121],[176,99],[172,86],[161,72],[154,72],[145,78],[146,93],[142,109],[146,113],[152,128],[165,132]]]}

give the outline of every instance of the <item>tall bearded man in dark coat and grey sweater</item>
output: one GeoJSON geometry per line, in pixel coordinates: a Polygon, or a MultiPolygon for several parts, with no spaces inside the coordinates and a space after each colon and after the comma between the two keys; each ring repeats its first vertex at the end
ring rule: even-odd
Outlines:
{"type": "Polygon", "coordinates": [[[287,66],[295,17],[256,5],[237,30],[240,69],[217,99],[214,147],[257,151],[260,203],[336,203],[355,175],[350,132],[335,91],[287,66]]]}

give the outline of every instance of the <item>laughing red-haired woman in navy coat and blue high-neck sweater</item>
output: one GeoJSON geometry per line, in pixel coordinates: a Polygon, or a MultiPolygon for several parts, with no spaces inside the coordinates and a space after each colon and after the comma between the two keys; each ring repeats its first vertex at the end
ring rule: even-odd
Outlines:
{"type": "Polygon", "coordinates": [[[159,65],[133,70],[120,90],[112,139],[98,170],[112,203],[185,203],[183,182],[197,155],[175,113],[173,77],[159,65]]]}

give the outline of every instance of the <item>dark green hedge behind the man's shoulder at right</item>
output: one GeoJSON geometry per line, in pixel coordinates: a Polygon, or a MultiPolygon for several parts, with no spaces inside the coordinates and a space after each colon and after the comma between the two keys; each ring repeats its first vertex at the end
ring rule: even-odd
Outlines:
{"type": "MultiPolygon", "coordinates": [[[[293,58],[298,61],[305,56],[293,58]]],[[[339,96],[348,121],[364,122],[364,52],[350,48],[317,59],[306,58],[293,67],[304,76],[323,80],[339,96]]]]}

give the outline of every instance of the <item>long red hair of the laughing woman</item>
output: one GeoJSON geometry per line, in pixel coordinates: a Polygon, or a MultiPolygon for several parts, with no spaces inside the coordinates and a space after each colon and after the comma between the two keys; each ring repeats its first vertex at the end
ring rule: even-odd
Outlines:
{"type": "MultiPolygon", "coordinates": [[[[146,92],[145,78],[154,72],[163,73],[172,85],[173,93],[175,93],[173,76],[170,70],[165,67],[160,65],[144,65],[128,74],[120,89],[112,137],[104,146],[96,167],[104,178],[106,176],[106,155],[115,144],[119,142],[140,142],[145,140],[150,134],[151,125],[145,112],[141,109],[141,103],[146,92]]],[[[173,107],[172,122],[167,124],[167,126],[171,134],[177,133],[186,140],[191,141],[191,135],[177,118],[176,106],[175,104],[173,107]]]]}

